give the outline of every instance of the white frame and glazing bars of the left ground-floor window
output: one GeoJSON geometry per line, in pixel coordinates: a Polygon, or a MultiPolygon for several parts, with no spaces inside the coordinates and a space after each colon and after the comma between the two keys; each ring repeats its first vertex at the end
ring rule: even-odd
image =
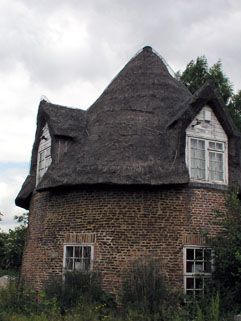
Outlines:
{"type": "MultiPolygon", "coordinates": [[[[82,251],[83,251],[83,249],[82,249],[82,251]]],[[[76,262],[76,260],[79,260],[81,258],[80,257],[76,257],[75,254],[73,254],[73,256],[70,257],[70,259],[73,260],[73,266],[74,266],[74,263],[76,262]]],[[[83,260],[84,260],[84,258],[82,257],[82,261],[83,260]]],[[[94,244],[91,244],[91,243],[65,243],[64,244],[64,257],[63,257],[64,272],[74,272],[74,271],[89,272],[89,271],[92,271],[93,270],[93,261],[94,261],[94,244]],[[82,247],[82,248],[90,247],[90,265],[89,265],[89,269],[88,270],[85,270],[85,269],[83,269],[81,267],[79,269],[75,269],[75,268],[68,269],[67,268],[67,257],[66,257],[66,254],[67,254],[67,248],[68,247],[73,247],[73,253],[75,252],[74,248],[76,248],[76,247],[82,247]]]]}

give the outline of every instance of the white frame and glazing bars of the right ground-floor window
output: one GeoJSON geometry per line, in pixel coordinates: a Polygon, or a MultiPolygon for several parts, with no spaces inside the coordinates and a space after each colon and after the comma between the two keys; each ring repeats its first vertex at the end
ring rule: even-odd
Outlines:
{"type": "Polygon", "coordinates": [[[185,245],[183,247],[183,271],[184,271],[184,291],[188,295],[200,295],[204,293],[205,280],[212,276],[214,270],[213,250],[210,247],[185,245]],[[188,259],[187,250],[194,250],[193,259],[188,259]],[[202,258],[197,259],[197,250],[202,251],[202,258]],[[210,260],[205,259],[204,252],[210,251],[210,260]],[[189,267],[187,268],[189,263],[189,267]],[[209,271],[205,271],[205,264],[210,264],[209,271]],[[190,267],[192,271],[190,270],[190,267]],[[196,271],[195,271],[196,270],[196,271]],[[188,280],[192,280],[192,287],[188,287],[188,280]]]}

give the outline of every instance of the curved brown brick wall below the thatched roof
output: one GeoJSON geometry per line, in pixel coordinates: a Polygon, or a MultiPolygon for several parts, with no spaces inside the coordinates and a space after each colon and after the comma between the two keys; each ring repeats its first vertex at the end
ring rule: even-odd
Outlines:
{"type": "Polygon", "coordinates": [[[200,228],[216,233],[214,209],[223,191],[205,188],[88,187],[36,193],[22,277],[36,289],[63,273],[64,243],[94,243],[94,268],[116,293],[123,268],[140,256],[158,258],[173,287],[183,286],[183,246],[200,245],[200,228]]]}

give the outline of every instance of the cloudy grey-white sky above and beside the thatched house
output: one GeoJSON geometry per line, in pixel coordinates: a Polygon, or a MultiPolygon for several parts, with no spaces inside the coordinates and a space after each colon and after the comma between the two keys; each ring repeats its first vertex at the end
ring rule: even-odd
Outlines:
{"type": "Polygon", "coordinates": [[[205,55],[241,89],[240,0],[0,0],[0,228],[14,229],[42,98],[87,109],[150,45],[174,72],[205,55]]]}

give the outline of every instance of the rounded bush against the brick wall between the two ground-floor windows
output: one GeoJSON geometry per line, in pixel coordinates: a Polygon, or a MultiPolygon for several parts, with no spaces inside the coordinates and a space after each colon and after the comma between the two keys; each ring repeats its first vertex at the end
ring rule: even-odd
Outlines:
{"type": "Polygon", "coordinates": [[[161,315],[166,295],[166,280],[156,260],[139,259],[123,274],[121,303],[127,308],[161,315]]]}

